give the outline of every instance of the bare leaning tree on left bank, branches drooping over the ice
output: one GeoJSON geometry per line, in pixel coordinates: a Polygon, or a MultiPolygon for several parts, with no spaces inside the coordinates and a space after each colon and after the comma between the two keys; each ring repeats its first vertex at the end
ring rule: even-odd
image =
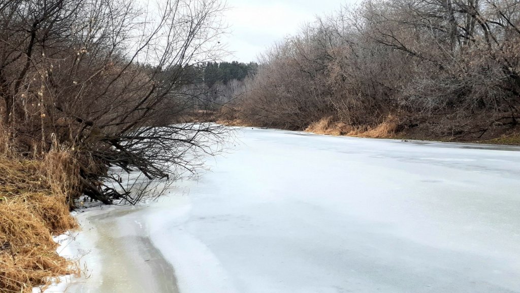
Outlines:
{"type": "Polygon", "coordinates": [[[3,127],[27,156],[67,147],[81,192],[104,203],[140,199],[113,170],[150,180],[192,172],[225,132],[186,122],[204,96],[193,68],[222,52],[223,4],[148,5],[0,1],[3,127]]]}

